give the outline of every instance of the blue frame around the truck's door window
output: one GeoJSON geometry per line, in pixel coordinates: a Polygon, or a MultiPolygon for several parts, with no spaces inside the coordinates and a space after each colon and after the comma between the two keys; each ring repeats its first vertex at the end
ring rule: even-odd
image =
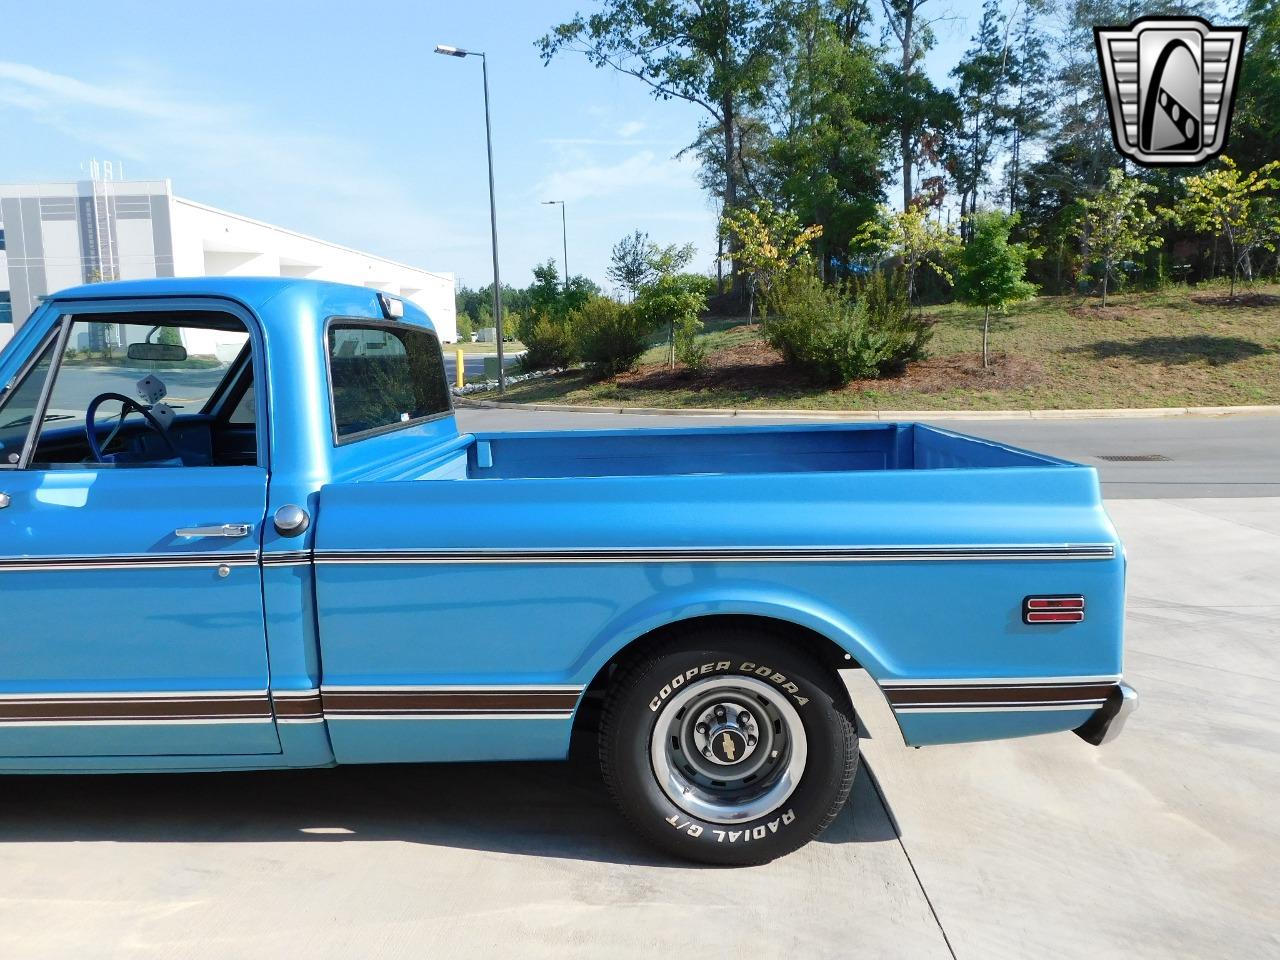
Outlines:
{"type": "MultiPolygon", "coordinates": [[[[22,448],[22,458],[18,463],[5,463],[0,465],[8,470],[31,470],[31,460],[36,453],[36,447],[38,445],[40,430],[37,428],[44,426],[45,412],[49,410],[49,401],[52,396],[54,387],[58,383],[58,374],[61,370],[63,357],[67,353],[67,343],[70,339],[72,329],[74,328],[77,319],[86,314],[120,314],[120,315],[142,315],[142,314],[180,314],[180,312],[218,312],[227,314],[234,317],[238,323],[244,326],[248,333],[247,346],[250,348],[250,362],[253,366],[253,389],[259,390],[257,399],[260,404],[260,415],[257,417],[257,424],[255,425],[256,431],[256,444],[257,444],[257,467],[270,471],[271,468],[271,435],[270,435],[270,416],[262,416],[261,411],[269,411],[270,394],[268,392],[266,376],[265,376],[265,344],[262,339],[262,330],[259,324],[257,316],[244,307],[238,301],[223,300],[219,297],[156,297],[155,300],[92,300],[92,301],[65,301],[56,305],[58,320],[55,321],[54,329],[40,340],[37,349],[27,357],[27,361],[20,367],[18,376],[13,380],[17,385],[22,378],[24,378],[31,369],[40,361],[41,352],[47,347],[49,338],[56,337],[56,349],[54,352],[54,362],[49,367],[49,380],[45,381],[44,388],[40,393],[38,406],[36,410],[36,416],[32,419],[31,431],[27,434],[27,442],[22,448]]],[[[119,323],[128,323],[122,320],[119,323]]],[[[230,372],[230,371],[228,371],[230,372]]],[[[8,396],[8,390],[0,394],[0,399],[8,396]]],[[[86,470],[101,468],[102,465],[86,463],[86,470]]],[[[184,470],[219,470],[221,467],[183,467],[184,470]]],[[[44,470],[41,467],[41,470],[44,470]]]]}

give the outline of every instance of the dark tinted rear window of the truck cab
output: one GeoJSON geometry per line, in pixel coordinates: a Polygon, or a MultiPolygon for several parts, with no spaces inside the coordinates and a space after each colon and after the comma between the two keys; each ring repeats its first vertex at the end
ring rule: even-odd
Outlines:
{"type": "Polygon", "coordinates": [[[440,342],[430,330],[334,320],[326,339],[338,444],[453,412],[440,342]]]}

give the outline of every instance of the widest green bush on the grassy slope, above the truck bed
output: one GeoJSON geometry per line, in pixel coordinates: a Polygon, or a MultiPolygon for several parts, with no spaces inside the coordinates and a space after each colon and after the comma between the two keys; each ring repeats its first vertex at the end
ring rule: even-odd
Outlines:
{"type": "Polygon", "coordinates": [[[827,287],[796,271],[778,282],[769,307],[764,339],[787,364],[831,385],[901,372],[924,356],[931,333],[910,310],[905,284],[883,274],[827,287]]]}

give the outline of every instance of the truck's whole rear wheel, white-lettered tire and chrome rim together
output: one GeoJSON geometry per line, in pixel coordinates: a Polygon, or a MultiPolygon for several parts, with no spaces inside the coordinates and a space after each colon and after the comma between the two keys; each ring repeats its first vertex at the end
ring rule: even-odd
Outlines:
{"type": "Polygon", "coordinates": [[[765,631],[705,627],[620,671],[600,767],[614,803],[658,846],[756,864],[836,818],[858,733],[833,671],[765,631]]]}

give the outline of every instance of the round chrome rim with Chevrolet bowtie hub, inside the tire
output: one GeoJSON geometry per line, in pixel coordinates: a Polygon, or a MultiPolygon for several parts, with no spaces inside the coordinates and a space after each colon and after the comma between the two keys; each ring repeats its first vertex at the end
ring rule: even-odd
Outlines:
{"type": "Polygon", "coordinates": [[[744,823],[776,810],[800,785],[809,741],[786,694],[754,677],[686,686],[654,723],[658,786],[685,813],[744,823]]]}

